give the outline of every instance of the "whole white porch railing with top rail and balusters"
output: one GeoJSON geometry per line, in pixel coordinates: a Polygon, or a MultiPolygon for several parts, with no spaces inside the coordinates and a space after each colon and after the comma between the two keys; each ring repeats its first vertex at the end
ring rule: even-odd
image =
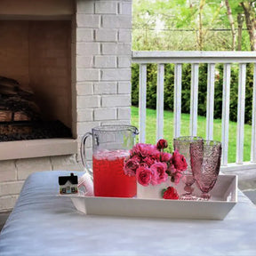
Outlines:
{"type": "Polygon", "coordinates": [[[256,52],[132,52],[132,62],[140,64],[140,142],[146,140],[146,94],[147,64],[157,64],[156,96],[156,140],[164,135],[164,64],[172,63],[174,68],[174,132],[173,137],[180,136],[181,119],[181,74],[182,64],[191,64],[191,97],[190,97],[190,135],[197,132],[197,99],[199,64],[208,64],[206,134],[205,138],[213,139],[214,107],[214,72],[215,64],[223,63],[223,98],[222,98],[222,168],[228,170],[256,169],[256,52]],[[238,107],[236,127],[236,164],[228,164],[228,124],[231,64],[239,64],[238,107]],[[246,64],[254,64],[253,99],[252,99],[252,147],[251,161],[244,163],[244,107],[246,64]],[[243,164],[243,165],[242,165],[243,164]]]}

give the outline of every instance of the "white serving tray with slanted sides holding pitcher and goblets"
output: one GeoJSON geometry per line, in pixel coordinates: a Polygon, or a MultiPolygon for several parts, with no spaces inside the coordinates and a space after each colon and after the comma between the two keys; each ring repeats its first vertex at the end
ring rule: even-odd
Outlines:
{"type": "Polygon", "coordinates": [[[211,195],[212,199],[210,201],[79,195],[69,197],[71,197],[73,204],[79,212],[84,212],[88,215],[223,220],[237,203],[237,176],[219,175],[211,195]]]}

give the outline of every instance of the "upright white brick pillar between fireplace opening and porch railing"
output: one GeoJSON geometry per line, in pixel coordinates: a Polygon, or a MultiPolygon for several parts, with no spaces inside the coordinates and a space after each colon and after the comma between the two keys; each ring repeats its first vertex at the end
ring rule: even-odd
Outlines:
{"type": "Polygon", "coordinates": [[[96,124],[129,124],[132,0],[78,0],[76,35],[77,134],[96,124]]]}

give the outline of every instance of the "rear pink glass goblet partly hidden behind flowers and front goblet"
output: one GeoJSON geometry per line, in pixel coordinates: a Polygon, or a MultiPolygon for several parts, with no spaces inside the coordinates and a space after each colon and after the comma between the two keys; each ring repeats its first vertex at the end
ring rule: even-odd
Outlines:
{"type": "Polygon", "coordinates": [[[190,164],[190,147],[193,144],[195,145],[195,148],[197,147],[198,150],[201,148],[202,151],[203,142],[203,138],[197,136],[181,136],[173,139],[174,150],[178,150],[180,154],[186,158],[188,164],[187,170],[183,172],[183,176],[181,178],[182,182],[185,183],[185,194],[180,196],[180,200],[197,199],[197,197],[192,194],[194,189],[191,187],[194,184],[195,179],[190,164]]]}

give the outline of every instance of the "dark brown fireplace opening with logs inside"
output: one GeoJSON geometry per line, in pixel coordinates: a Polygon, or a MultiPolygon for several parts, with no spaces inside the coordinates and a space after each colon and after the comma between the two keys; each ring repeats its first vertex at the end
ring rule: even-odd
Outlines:
{"type": "Polygon", "coordinates": [[[0,20],[0,141],[72,138],[71,21],[0,20]]]}

